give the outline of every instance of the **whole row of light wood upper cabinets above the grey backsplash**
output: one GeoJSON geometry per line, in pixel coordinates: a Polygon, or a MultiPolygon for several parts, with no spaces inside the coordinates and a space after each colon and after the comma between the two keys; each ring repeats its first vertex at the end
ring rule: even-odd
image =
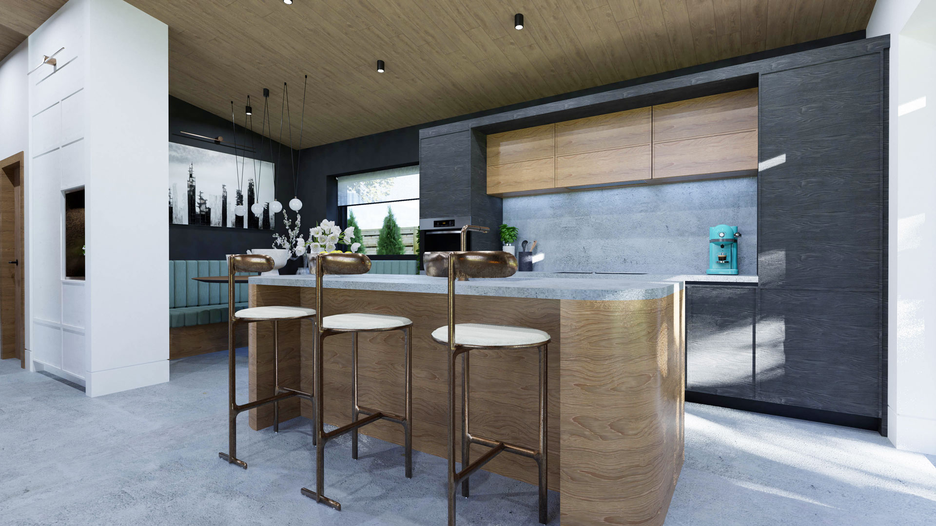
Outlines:
{"type": "Polygon", "coordinates": [[[757,88],[488,136],[493,196],[756,168],[757,88]]]}

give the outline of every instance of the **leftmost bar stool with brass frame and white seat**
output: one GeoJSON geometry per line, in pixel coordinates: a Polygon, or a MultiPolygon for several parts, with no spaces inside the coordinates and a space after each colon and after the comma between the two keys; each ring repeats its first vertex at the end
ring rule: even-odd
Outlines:
{"type": "Polygon", "coordinates": [[[312,399],[309,393],[289,387],[280,386],[280,341],[279,322],[283,320],[314,318],[315,311],[304,307],[251,307],[234,312],[234,274],[237,272],[266,272],[273,270],[271,256],[241,254],[230,256],[227,260],[227,451],[218,453],[218,456],[228,463],[237,464],[247,469],[247,462],[237,458],[237,416],[242,412],[254,409],[268,403],[273,404],[273,431],[280,431],[280,401],[294,396],[312,399]],[[273,322],[273,370],[276,390],[273,396],[247,402],[237,403],[234,385],[234,329],[239,323],[256,323],[260,321],[273,322]]]}

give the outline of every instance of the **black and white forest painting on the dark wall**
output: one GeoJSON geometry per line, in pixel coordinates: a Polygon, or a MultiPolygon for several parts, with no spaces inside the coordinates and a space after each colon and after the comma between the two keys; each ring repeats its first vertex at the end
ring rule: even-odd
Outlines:
{"type": "Polygon", "coordinates": [[[169,224],[271,230],[274,168],[240,154],[169,142],[169,224]],[[255,203],[264,207],[260,216],[251,212],[255,203]],[[235,213],[237,205],[244,205],[244,215],[235,213]]]}

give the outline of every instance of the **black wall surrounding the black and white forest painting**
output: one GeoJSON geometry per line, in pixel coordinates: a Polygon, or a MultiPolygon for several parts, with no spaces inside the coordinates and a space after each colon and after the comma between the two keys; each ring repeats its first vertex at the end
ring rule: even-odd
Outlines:
{"type": "MultiPolygon", "coordinates": [[[[254,123],[257,125],[260,124],[262,104],[262,99],[254,103],[254,117],[256,117],[254,123]]],[[[240,115],[235,113],[235,120],[242,119],[243,105],[235,102],[234,107],[235,109],[241,109],[240,115]]],[[[271,121],[275,122],[278,119],[279,115],[276,115],[275,118],[271,118],[271,121]]],[[[180,133],[183,131],[205,137],[222,136],[225,140],[231,142],[234,139],[233,126],[227,119],[202,110],[182,99],[169,96],[169,142],[187,144],[215,152],[234,153],[232,147],[218,145],[213,141],[185,137],[180,133]]],[[[261,150],[260,135],[257,133],[247,135],[246,130],[240,124],[238,125],[237,139],[239,144],[246,143],[248,145],[251,144],[253,139],[256,154],[248,152],[248,158],[254,157],[263,161],[277,162],[278,142],[273,142],[273,155],[271,156],[266,139],[264,142],[266,147],[261,150]]],[[[289,175],[289,156],[298,156],[298,152],[291,150],[288,146],[282,147],[282,152],[280,166],[276,167],[276,198],[283,203],[284,210],[288,210],[287,203],[293,197],[292,182],[289,175]]],[[[234,179],[234,174],[231,174],[231,178],[234,179]]],[[[246,187],[244,187],[244,191],[246,191],[246,187]]],[[[281,217],[282,215],[277,216],[278,231],[283,231],[281,217]]],[[[224,259],[226,254],[242,254],[250,248],[270,247],[273,241],[272,235],[271,230],[169,225],[169,259],[224,259]]]]}

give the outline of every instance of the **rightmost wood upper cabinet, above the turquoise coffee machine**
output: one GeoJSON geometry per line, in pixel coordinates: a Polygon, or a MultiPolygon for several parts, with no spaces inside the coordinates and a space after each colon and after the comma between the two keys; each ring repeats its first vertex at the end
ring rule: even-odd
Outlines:
{"type": "Polygon", "coordinates": [[[653,107],[653,178],[757,168],[757,88],[653,107]]]}

